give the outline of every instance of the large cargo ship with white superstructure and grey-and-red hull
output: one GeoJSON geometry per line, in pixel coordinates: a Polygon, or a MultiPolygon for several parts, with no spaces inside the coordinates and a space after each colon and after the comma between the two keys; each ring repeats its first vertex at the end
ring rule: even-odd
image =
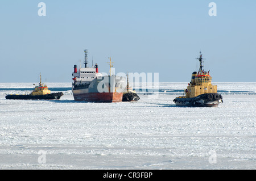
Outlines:
{"type": "Polygon", "coordinates": [[[77,70],[74,65],[72,92],[76,101],[112,103],[122,102],[125,78],[112,75],[113,62],[110,57],[109,75],[98,72],[98,65],[87,67],[87,50],[85,52],[85,67],[77,70]]]}

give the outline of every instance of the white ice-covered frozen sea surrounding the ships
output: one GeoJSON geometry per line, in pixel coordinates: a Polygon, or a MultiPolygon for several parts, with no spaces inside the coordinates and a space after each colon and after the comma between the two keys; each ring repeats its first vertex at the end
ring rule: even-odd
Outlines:
{"type": "Polygon", "coordinates": [[[216,108],[176,107],[183,82],[134,103],[75,102],[71,83],[47,85],[60,100],[6,100],[33,83],[0,83],[0,169],[255,169],[256,82],[216,83],[216,108]]]}

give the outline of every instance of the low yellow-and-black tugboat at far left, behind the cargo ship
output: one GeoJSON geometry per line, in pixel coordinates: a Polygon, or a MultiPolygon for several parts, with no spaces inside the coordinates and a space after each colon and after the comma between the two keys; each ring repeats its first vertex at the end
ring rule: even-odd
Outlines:
{"type": "Polygon", "coordinates": [[[43,85],[41,82],[41,74],[40,74],[40,83],[39,86],[36,86],[35,89],[28,95],[6,95],[6,99],[60,99],[63,96],[63,92],[52,93],[48,89],[47,85],[43,85]]]}

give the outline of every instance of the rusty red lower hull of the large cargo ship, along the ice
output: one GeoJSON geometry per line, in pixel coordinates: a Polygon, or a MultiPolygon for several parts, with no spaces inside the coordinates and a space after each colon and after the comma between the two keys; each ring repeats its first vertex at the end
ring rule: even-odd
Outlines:
{"type": "Polygon", "coordinates": [[[83,94],[73,94],[76,101],[84,102],[100,102],[100,103],[112,103],[122,102],[122,92],[88,92],[83,94]]]}

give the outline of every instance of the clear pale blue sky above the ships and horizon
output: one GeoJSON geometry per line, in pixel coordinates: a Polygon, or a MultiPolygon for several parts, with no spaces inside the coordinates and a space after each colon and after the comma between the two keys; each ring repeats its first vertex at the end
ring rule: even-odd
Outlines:
{"type": "Polygon", "coordinates": [[[111,56],[115,73],[160,82],[189,82],[201,50],[213,82],[256,82],[255,20],[254,0],[1,1],[0,82],[72,82],[84,49],[102,72],[111,56]]]}

